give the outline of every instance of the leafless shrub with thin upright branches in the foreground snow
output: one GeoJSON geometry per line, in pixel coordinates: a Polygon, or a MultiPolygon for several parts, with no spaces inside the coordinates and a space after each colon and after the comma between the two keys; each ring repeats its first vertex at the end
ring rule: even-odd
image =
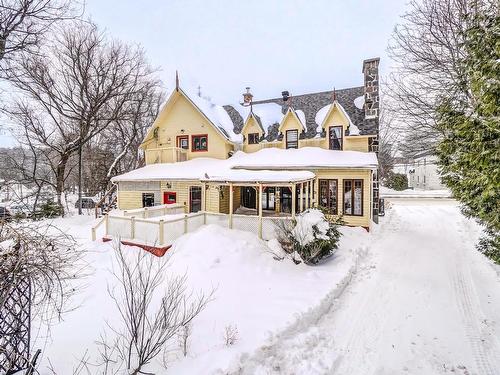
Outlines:
{"type": "MultiPolygon", "coordinates": [[[[118,286],[109,292],[121,318],[112,326],[116,340],[106,344],[107,353],[116,354],[109,363],[124,367],[131,375],[144,373],[145,367],[167,349],[170,340],[188,326],[211,301],[208,295],[188,292],[186,275],[165,279],[167,262],[146,252],[126,256],[116,251],[118,286]]],[[[102,351],[104,352],[104,351],[102,351]]]]}

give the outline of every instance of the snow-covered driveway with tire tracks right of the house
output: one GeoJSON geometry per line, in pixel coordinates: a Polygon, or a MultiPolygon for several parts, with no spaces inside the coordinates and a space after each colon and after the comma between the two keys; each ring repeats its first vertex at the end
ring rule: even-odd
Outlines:
{"type": "Polygon", "coordinates": [[[500,374],[500,277],[450,201],[397,202],[330,310],[231,374],[500,374]]]}

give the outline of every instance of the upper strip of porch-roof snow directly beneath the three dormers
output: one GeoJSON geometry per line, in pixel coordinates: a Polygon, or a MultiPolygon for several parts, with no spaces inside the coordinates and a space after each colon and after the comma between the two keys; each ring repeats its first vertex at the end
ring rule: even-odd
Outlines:
{"type": "Polygon", "coordinates": [[[319,147],[299,149],[265,148],[254,153],[237,152],[233,157],[236,169],[328,169],[369,168],[378,166],[374,152],[334,151],[319,147]]]}

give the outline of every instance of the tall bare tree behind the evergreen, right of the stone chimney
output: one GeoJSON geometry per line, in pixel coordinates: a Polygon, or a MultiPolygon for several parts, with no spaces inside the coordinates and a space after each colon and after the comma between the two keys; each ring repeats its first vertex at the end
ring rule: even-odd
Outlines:
{"type": "MultiPolygon", "coordinates": [[[[492,0],[411,0],[389,44],[394,69],[386,108],[406,133],[409,151],[432,150],[441,138],[436,107],[443,95],[462,95],[463,31],[474,8],[492,0]]],[[[467,92],[466,92],[467,95],[467,92]]]]}

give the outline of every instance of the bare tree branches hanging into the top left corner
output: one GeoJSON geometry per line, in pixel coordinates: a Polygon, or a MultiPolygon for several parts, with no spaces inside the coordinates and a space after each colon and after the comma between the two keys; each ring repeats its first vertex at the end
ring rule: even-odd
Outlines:
{"type": "Polygon", "coordinates": [[[54,23],[73,17],[78,8],[67,0],[0,0],[0,61],[33,52],[54,23]]]}

